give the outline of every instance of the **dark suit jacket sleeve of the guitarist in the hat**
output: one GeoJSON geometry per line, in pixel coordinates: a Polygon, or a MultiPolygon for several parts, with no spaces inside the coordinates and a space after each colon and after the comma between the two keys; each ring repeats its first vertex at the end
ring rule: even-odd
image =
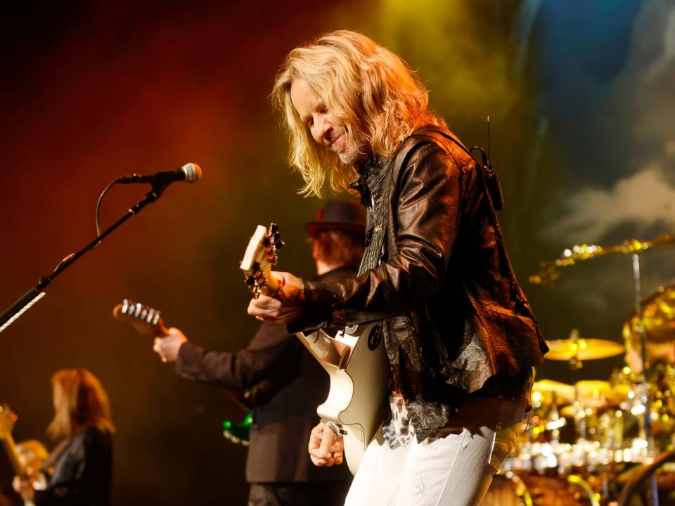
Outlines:
{"type": "Polygon", "coordinates": [[[269,323],[261,325],[245,349],[234,353],[207,351],[186,342],[178,353],[176,374],[230,389],[250,389],[283,365],[297,344],[283,325],[269,323]]]}

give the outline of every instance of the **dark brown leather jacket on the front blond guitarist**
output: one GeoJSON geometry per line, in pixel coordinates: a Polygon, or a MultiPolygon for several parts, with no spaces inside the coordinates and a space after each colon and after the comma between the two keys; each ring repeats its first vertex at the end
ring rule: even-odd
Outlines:
{"type": "Polygon", "coordinates": [[[473,158],[425,129],[359,173],[368,205],[361,275],[305,283],[312,318],[301,325],[384,320],[390,389],[403,394],[418,441],[468,394],[525,397],[546,342],[473,158]]]}

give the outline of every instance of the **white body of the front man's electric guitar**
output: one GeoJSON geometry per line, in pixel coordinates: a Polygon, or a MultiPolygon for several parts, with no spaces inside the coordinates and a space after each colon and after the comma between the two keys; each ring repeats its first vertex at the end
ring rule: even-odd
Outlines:
{"type": "Polygon", "coordinates": [[[368,444],[378,435],[382,402],[387,393],[389,361],[382,323],[374,322],[340,331],[335,340],[347,344],[338,353],[333,338],[323,330],[297,337],[330,376],[326,401],[316,408],[321,418],[342,425],[345,460],[352,474],[359,469],[368,444]]]}

